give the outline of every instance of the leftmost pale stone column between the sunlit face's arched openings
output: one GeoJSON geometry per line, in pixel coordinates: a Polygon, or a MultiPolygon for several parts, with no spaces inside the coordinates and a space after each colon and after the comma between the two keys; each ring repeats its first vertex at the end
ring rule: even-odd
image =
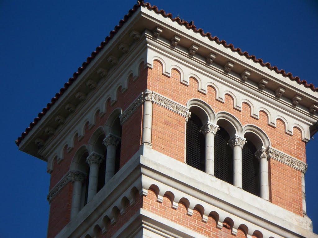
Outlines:
{"type": "Polygon", "coordinates": [[[214,176],[214,137],[219,130],[218,125],[207,122],[201,132],[205,137],[205,173],[214,176]]]}

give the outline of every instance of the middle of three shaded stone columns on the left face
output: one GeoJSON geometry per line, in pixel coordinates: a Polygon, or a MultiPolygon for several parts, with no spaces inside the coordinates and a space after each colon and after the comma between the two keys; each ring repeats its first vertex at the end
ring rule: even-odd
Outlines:
{"type": "Polygon", "coordinates": [[[89,180],[88,180],[88,195],[87,202],[91,201],[97,193],[98,185],[98,170],[101,162],[103,162],[104,156],[96,152],[92,152],[88,155],[86,162],[89,164],[89,180]]]}

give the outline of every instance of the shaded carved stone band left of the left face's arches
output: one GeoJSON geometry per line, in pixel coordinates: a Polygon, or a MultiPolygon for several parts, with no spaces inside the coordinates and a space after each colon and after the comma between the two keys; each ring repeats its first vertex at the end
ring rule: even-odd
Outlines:
{"type": "Polygon", "coordinates": [[[51,203],[52,199],[55,197],[55,195],[57,195],[59,193],[59,191],[62,190],[62,188],[64,188],[64,186],[68,183],[68,182],[74,182],[76,180],[82,181],[84,182],[86,179],[86,174],[82,173],[80,171],[76,171],[76,172],[72,172],[69,171],[66,175],[64,175],[64,177],[51,189],[51,191],[49,192],[49,194],[47,195],[47,201],[49,201],[49,203],[51,203]]]}

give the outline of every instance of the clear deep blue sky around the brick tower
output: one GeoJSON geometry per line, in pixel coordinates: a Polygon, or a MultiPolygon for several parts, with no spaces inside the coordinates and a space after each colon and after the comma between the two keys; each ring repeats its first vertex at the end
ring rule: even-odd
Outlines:
{"type": "MultiPolygon", "coordinates": [[[[150,3],[318,86],[318,1],[150,3]]],[[[46,162],[19,151],[14,140],[134,4],[135,0],[0,0],[0,237],[46,236],[46,162]]],[[[318,233],[316,137],[307,145],[306,195],[308,215],[318,233]]]]}

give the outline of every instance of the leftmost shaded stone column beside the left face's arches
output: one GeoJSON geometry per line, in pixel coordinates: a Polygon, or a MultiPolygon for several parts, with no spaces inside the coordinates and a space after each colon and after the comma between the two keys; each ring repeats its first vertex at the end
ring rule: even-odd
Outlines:
{"type": "Polygon", "coordinates": [[[72,206],[71,206],[71,220],[78,214],[81,204],[81,195],[82,195],[82,185],[86,179],[86,174],[82,172],[74,173],[74,183],[73,183],[73,195],[72,195],[72,206]]]}

